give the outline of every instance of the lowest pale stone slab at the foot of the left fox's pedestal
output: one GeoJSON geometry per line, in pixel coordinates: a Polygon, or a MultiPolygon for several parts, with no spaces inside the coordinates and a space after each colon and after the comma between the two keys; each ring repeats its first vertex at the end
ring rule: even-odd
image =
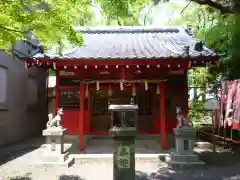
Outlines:
{"type": "Polygon", "coordinates": [[[68,168],[75,163],[75,158],[73,156],[69,156],[69,158],[64,162],[38,162],[35,164],[36,167],[64,167],[68,168]]]}

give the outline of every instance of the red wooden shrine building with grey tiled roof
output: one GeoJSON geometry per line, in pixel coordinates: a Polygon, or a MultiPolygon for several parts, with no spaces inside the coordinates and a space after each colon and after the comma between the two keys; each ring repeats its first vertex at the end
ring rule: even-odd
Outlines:
{"type": "Polygon", "coordinates": [[[56,72],[55,111],[85,146],[87,135],[107,135],[109,104],[137,104],[138,134],[159,135],[162,149],[176,127],[176,106],[188,111],[187,72],[217,65],[218,56],[182,27],[79,28],[82,47],[27,59],[56,72]]]}

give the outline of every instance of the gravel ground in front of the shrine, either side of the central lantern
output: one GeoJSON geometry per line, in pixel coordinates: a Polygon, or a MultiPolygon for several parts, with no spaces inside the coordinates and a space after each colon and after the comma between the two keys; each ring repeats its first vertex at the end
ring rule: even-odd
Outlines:
{"type": "MultiPolygon", "coordinates": [[[[36,167],[40,149],[0,166],[0,180],[112,180],[111,161],[91,161],[70,168],[36,167]],[[31,162],[31,163],[30,163],[31,162]],[[25,178],[21,178],[25,177],[25,178]]],[[[240,180],[240,166],[206,166],[202,169],[173,170],[156,161],[137,161],[137,180],[240,180]]]]}

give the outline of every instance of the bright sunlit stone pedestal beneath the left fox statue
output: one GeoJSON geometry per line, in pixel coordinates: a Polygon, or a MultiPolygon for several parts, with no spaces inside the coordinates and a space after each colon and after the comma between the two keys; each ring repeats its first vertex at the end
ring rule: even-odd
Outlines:
{"type": "Polygon", "coordinates": [[[59,165],[69,167],[74,163],[74,158],[69,157],[67,150],[64,150],[63,128],[49,128],[43,130],[43,136],[46,136],[46,148],[41,155],[42,165],[59,165]]]}

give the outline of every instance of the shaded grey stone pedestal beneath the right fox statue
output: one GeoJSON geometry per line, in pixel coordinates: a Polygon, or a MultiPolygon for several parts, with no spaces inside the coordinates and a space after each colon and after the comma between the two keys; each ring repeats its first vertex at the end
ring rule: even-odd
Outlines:
{"type": "Polygon", "coordinates": [[[189,125],[183,125],[174,129],[176,138],[176,152],[170,156],[168,162],[171,167],[193,167],[202,166],[204,162],[200,161],[198,155],[194,154],[193,148],[196,140],[196,130],[189,125]]]}

